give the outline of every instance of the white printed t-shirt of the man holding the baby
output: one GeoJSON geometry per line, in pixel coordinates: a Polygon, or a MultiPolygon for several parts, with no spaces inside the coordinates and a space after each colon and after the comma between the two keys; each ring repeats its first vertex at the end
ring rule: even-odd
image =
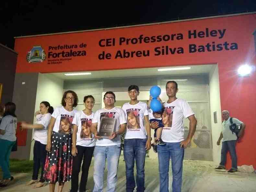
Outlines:
{"type": "Polygon", "coordinates": [[[184,99],[177,98],[171,103],[164,103],[165,112],[162,121],[165,125],[162,131],[164,142],[180,142],[184,140],[183,119],[194,115],[189,104],[184,99]]]}

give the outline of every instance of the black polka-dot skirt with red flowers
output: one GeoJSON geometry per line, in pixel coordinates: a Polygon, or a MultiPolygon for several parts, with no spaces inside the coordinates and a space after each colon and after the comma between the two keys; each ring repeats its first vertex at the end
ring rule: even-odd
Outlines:
{"type": "Polygon", "coordinates": [[[52,133],[52,148],[47,153],[44,178],[49,183],[64,183],[72,175],[72,134],[52,133]]]}

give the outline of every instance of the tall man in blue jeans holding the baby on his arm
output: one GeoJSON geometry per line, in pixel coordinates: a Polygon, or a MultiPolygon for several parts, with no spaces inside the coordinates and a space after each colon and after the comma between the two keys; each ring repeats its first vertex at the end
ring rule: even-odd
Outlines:
{"type": "MultiPolygon", "coordinates": [[[[171,158],[172,168],[172,192],[180,192],[182,184],[182,164],[184,148],[191,141],[196,130],[197,120],[189,104],[184,99],[176,97],[178,85],[175,81],[168,81],[166,94],[168,101],[163,103],[163,124],[162,140],[166,145],[157,145],[159,177],[161,192],[169,192],[169,160],[171,158]],[[183,118],[188,118],[189,135],[184,140],[183,118]],[[168,123],[166,122],[168,121],[168,123]],[[168,127],[166,127],[168,125],[168,127]]],[[[158,122],[152,122],[153,128],[158,127],[158,122]]]]}

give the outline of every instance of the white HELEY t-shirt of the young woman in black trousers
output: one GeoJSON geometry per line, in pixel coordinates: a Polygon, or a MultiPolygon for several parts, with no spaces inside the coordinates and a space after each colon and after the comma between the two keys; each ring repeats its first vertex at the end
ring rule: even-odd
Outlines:
{"type": "Polygon", "coordinates": [[[76,134],[76,145],[83,147],[95,146],[94,134],[90,132],[93,117],[93,112],[91,115],[86,115],[83,111],[76,113],[72,122],[72,124],[78,127],[76,134]]]}

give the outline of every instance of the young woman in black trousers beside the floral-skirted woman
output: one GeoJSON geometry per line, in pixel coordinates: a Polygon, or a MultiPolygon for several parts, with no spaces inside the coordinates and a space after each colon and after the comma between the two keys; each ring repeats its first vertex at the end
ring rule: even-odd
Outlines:
{"type": "Polygon", "coordinates": [[[89,192],[86,189],[89,167],[92,160],[92,155],[95,147],[94,135],[90,131],[94,113],[92,108],[94,106],[94,97],[91,95],[84,96],[85,109],[76,113],[73,119],[73,133],[72,133],[72,155],[73,155],[73,169],[70,192],[77,192],[78,190],[78,175],[82,165],[82,175],[80,180],[79,192],[89,192]]]}

